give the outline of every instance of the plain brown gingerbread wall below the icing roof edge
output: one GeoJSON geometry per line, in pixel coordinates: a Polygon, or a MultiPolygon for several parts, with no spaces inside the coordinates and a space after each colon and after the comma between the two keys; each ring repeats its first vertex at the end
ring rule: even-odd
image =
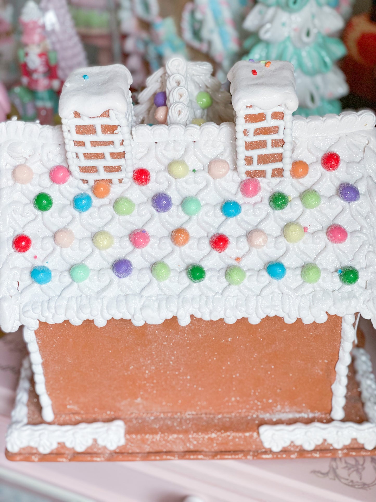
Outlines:
{"type": "Polygon", "coordinates": [[[135,327],[41,323],[36,337],[55,423],[132,415],[328,418],[341,318],[240,319],[135,327]]]}

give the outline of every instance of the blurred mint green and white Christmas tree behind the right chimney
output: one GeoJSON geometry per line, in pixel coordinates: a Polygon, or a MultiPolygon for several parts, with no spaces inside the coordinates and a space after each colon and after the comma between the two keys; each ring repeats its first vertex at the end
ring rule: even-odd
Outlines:
{"type": "Polygon", "coordinates": [[[299,108],[295,114],[339,113],[339,98],[348,93],[344,74],[335,62],[346,54],[344,44],[330,37],[343,18],[327,0],[258,0],[244,21],[252,32],[243,59],[279,59],[295,67],[299,108]]]}

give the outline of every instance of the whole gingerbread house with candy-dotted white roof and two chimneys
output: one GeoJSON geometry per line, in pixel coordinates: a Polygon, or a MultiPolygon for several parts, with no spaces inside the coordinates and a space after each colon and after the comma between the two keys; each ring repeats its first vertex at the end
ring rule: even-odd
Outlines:
{"type": "Polygon", "coordinates": [[[10,459],[376,452],[375,116],[293,117],[288,62],[237,63],[231,98],[198,68],[134,113],[125,68],[84,68],[62,127],[0,124],[10,459]]]}

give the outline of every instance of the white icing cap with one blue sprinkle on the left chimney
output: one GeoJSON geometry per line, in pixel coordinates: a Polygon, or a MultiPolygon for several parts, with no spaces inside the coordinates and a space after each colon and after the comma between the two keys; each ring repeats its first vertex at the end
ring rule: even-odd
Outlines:
{"type": "Polygon", "coordinates": [[[94,117],[108,108],[125,115],[131,83],[131,74],[122,64],[75,70],[63,85],[59,115],[70,118],[74,111],[78,111],[81,115],[94,117]]]}

